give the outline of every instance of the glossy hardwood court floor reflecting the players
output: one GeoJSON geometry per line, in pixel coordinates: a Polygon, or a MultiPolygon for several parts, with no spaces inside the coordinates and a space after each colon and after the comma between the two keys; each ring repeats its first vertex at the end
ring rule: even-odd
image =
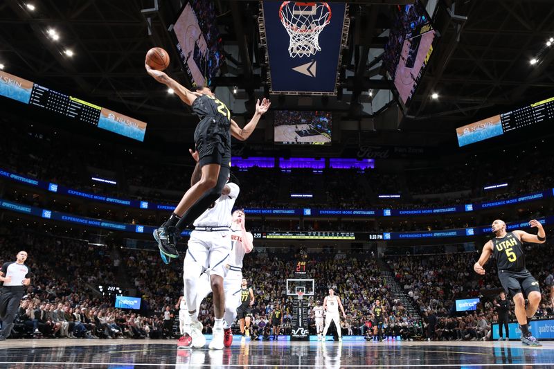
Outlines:
{"type": "Polygon", "coordinates": [[[8,340],[0,368],[554,368],[554,342],[242,341],[177,350],[168,340],[8,340]]]}

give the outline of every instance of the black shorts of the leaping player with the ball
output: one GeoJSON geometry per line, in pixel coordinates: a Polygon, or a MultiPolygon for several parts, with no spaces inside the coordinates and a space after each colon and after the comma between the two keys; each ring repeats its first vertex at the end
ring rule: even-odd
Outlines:
{"type": "Polygon", "coordinates": [[[195,129],[195,144],[199,165],[219,164],[231,167],[231,133],[222,126],[219,117],[206,116],[195,129]]]}

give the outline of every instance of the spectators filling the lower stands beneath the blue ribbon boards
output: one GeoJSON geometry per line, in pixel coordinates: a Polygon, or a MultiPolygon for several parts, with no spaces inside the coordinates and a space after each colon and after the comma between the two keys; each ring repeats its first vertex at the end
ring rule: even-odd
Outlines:
{"type": "MultiPolygon", "coordinates": [[[[12,227],[10,227],[12,228],[12,227]]],[[[551,241],[551,239],[549,239],[551,241]]],[[[548,243],[548,242],[547,242],[548,243]]],[[[343,334],[373,334],[372,309],[378,298],[386,310],[384,334],[404,339],[489,339],[490,325],[496,319],[494,298],[499,282],[494,262],[487,274],[472,271],[475,252],[422,256],[388,256],[394,280],[404,289],[411,307],[419,316],[411,316],[400,296],[393,293],[391,280],[384,278],[373,253],[348,254],[335,249],[328,252],[255,252],[244,259],[244,277],[253,287],[253,334],[268,339],[269,316],[276,304],[284,309],[281,334],[291,329],[292,302],[287,295],[286,279],[294,278],[296,261],[305,258],[307,270],[315,280],[314,296],[323,301],[332,287],[341,297],[347,314],[341,324],[343,334]],[[489,292],[488,292],[489,291],[489,292]],[[456,298],[485,296],[474,314],[458,315],[452,309],[456,298]]],[[[181,263],[166,266],[152,250],[120,249],[89,244],[74,237],[46,235],[22,228],[0,228],[0,261],[13,258],[19,249],[28,251],[32,283],[21,302],[16,332],[35,336],[76,336],[84,338],[163,338],[171,337],[177,300],[182,294],[181,263]],[[23,235],[23,236],[21,236],[23,235]],[[17,246],[15,246],[17,245],[17,246]],[[123,279],[123,280],[122,280],[123,279]],[[114,296],[98,293],[98,285],[122,285],[143,300],[141,310],[133,313],[115,309],[114,296]],[[176,286],[180,286],[177,287],[176,286]]],[[[526,248],[528,269],[544,284],[553,270],[548,260],[554,251],[544,245],[526,248]]],[[[543,303],[537,314],[553,314],[548,291],[543,288],[543,303]]],[[[208,297],[199,309],[204,332],[213,327],[213,309],[208,297]]],[[[314,320],[310,309],[310,332],[314,320]]],[[[333,332],[331,330],[330,332],[333,332]]],[[[16,333],[16,337],[17,334],[16,333]]]]}

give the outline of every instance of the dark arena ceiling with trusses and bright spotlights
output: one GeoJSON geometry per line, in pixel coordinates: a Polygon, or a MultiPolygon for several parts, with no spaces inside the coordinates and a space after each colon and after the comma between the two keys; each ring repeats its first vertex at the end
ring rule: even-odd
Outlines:
{"type": "MultiPolygon", "coordinates": [[[[215,1],[226,45],[224,76],[216,86],[240,84],[237,98],[261,96],[267,86],[260,48],[258,1],[215,1]],[[247,82],[245,82],[247,81],[247,82]],[[240,82],[240,83],[239,83],[240,82]]],[[[391,88],[379,67],[394,4],[406,0],[350,1],[350,33],[337,98],[317,98],[314,107],[330,107],[352,116],[357,102],[370,102],[368,87],[391,88]],[[356,81],[370,78],[370,84],[356,81]]],[[[543,98],[554,91],[554,7],[549,0],[444,0],[434,19],[440,40],[413,104],[398,127],[404,132],[452,134],[452,129],[490,111],[543,98]],[[536,57],[539,62],[530,65],[536,57]],[[431,100],[432,92],[439,93],[431,100]]],[[[0,3],[0,62],[8,73],[104,104],[137,118],[165,136],[183,132],[190,111],[161,89],[144,71],[145,51],[172,42],[168,27],[179,0],[42,0],[29,10],[22,0],[0,3]],[[55,28],[54,42],[47,30],[55,28]],[[66,48],[75,53],[64,54],[66,48]]],[[[170,74],[186,83],[172,54],[170,74]]],[[[298,97],[274,106],[295,107],[298,97]]],[[[357,115],[357,114],[355,114],[357,115]]],[[[368,116],[368,111],[361,114],[368,116]]],[[[486,115],[485,115],[486,116],[486,115]]],[[[359,118],[359,116],[357,116],[359,118]]],[[[194,125],[190,126],[192,131],[194,125]]],[[[396,128],[397,125],[394,125],[396,128]]],[[[186,131],[186,129],[185,129],[186,131]]],[[[186,134],[190,135],[190,131],[186,134]]],[[[263,138],[260,138],[263,141],[263,138]]]]}

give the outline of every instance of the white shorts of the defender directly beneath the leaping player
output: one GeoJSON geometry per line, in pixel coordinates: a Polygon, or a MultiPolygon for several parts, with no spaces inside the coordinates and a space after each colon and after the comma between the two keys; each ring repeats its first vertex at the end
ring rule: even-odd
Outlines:
{"type": "Polygon", "coordinates": [[[210,274],[225,277],[227,272],[225,265],[231,252],[229,233],[229,231],[190,233],[183,264],[185,273],[188,267],[191,271],[197,271],[197,266],[200,265],[204,269],[210,269],[210,274]]]}

